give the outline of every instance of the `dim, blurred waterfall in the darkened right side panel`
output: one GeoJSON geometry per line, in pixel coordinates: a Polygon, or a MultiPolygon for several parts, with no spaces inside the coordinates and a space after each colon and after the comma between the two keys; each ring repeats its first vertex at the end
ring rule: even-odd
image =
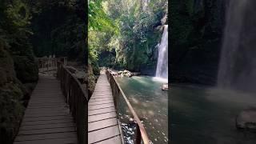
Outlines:
{"type": "Polygon", "coordinates": [[[228,2],[218,86],[256,91],[256,1],[228,2]]]}

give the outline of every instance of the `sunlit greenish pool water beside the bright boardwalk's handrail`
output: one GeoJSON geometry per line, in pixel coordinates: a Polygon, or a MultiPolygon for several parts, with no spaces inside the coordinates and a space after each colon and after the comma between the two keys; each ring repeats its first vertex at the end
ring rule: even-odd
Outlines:
{"type": "MultiPolygon", "coordinates": [[[[116,78],[130,104],[142,120],[146,132],[153,143],[168,142],[168,93],[162,91],[162,82],[153,80],[152,77],[116,78]]],[[[126,133],[127,143],[133,143],[135,125],[129,122],[129,111],[124,101],[118,101],[118,111],[122,119],[122,130],[126,133]]]]}

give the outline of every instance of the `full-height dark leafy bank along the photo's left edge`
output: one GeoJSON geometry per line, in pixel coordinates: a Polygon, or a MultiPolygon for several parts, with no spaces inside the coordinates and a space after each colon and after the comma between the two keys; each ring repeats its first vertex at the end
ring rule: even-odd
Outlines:
{"type": "Polygon", "coordinates": [[[38,80],[30,44],[30,7],[0,1],[0,143],[12,143],[38,80]]]}

